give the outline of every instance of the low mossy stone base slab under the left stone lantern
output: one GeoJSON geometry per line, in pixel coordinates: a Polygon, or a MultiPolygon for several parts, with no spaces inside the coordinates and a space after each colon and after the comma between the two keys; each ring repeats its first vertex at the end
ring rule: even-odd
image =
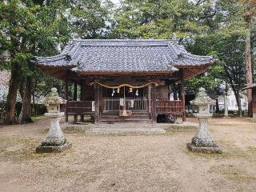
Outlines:
{"type": "Polygon", "coordinates": [[[47,146],[42,143],[41,146],[38,146],[35,150],[36,153],[61,153],[63,150],[69,149],[72,146],[70,142],[65,142],[59,146],[47,146]]]}

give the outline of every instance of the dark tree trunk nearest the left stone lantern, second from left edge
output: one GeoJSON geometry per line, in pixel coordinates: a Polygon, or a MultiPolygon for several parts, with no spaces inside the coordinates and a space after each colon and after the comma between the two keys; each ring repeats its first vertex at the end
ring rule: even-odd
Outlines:
{"type": "Polygon", "coordinates": [[[22,110],[19,114],[18,122],[32,122],[31,119],[31,95],[33,81],[31,77],[26,78],[26,87],[23,95],[22,110]]]}

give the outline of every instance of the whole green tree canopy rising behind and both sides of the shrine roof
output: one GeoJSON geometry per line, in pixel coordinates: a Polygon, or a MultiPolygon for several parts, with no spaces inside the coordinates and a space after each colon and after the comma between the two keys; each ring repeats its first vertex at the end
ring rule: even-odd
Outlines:
{"type": "Polygon", "coordinates": [[[31,94],[61,85],[30,60],[58,54],[69,38],[181,38],[191,53],[218,60],[206,74],[186,82],[187,89],[205,86],[221,93],[225,81],[239,94],[248,84],[248,54],[252,70],[256,67],[255,7],[254,0],[122,0],[116,8],[109,0],[2,1],[0,70],[11,71],[6,123],[14,122],[18,90],[30,105],[31,94]]]}

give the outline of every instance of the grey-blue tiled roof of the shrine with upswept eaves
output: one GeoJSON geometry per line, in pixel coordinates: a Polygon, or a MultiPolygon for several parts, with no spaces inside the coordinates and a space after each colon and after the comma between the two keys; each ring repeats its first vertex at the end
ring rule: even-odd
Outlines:
{"type": "Polygon", "coordinates": [[[78,73],[168,72],[205,66],[210,56],[189,54],[178,40],[70,40],[61,54],[36,58],[38,66],[67,67],[78,73]]]}

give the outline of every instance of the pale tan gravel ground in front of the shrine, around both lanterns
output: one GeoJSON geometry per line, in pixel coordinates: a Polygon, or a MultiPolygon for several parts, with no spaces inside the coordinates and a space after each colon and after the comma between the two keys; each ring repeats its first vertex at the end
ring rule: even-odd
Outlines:
{"type": "Polygon", "coordinates": [[[186,150],[195,130],[151,136],[66,130],[72,149],[35,154],[47,123],[0,126],[0,191],[256,191],[256,122],[246,118],[210,119],[223,154],[186,150]]]}

